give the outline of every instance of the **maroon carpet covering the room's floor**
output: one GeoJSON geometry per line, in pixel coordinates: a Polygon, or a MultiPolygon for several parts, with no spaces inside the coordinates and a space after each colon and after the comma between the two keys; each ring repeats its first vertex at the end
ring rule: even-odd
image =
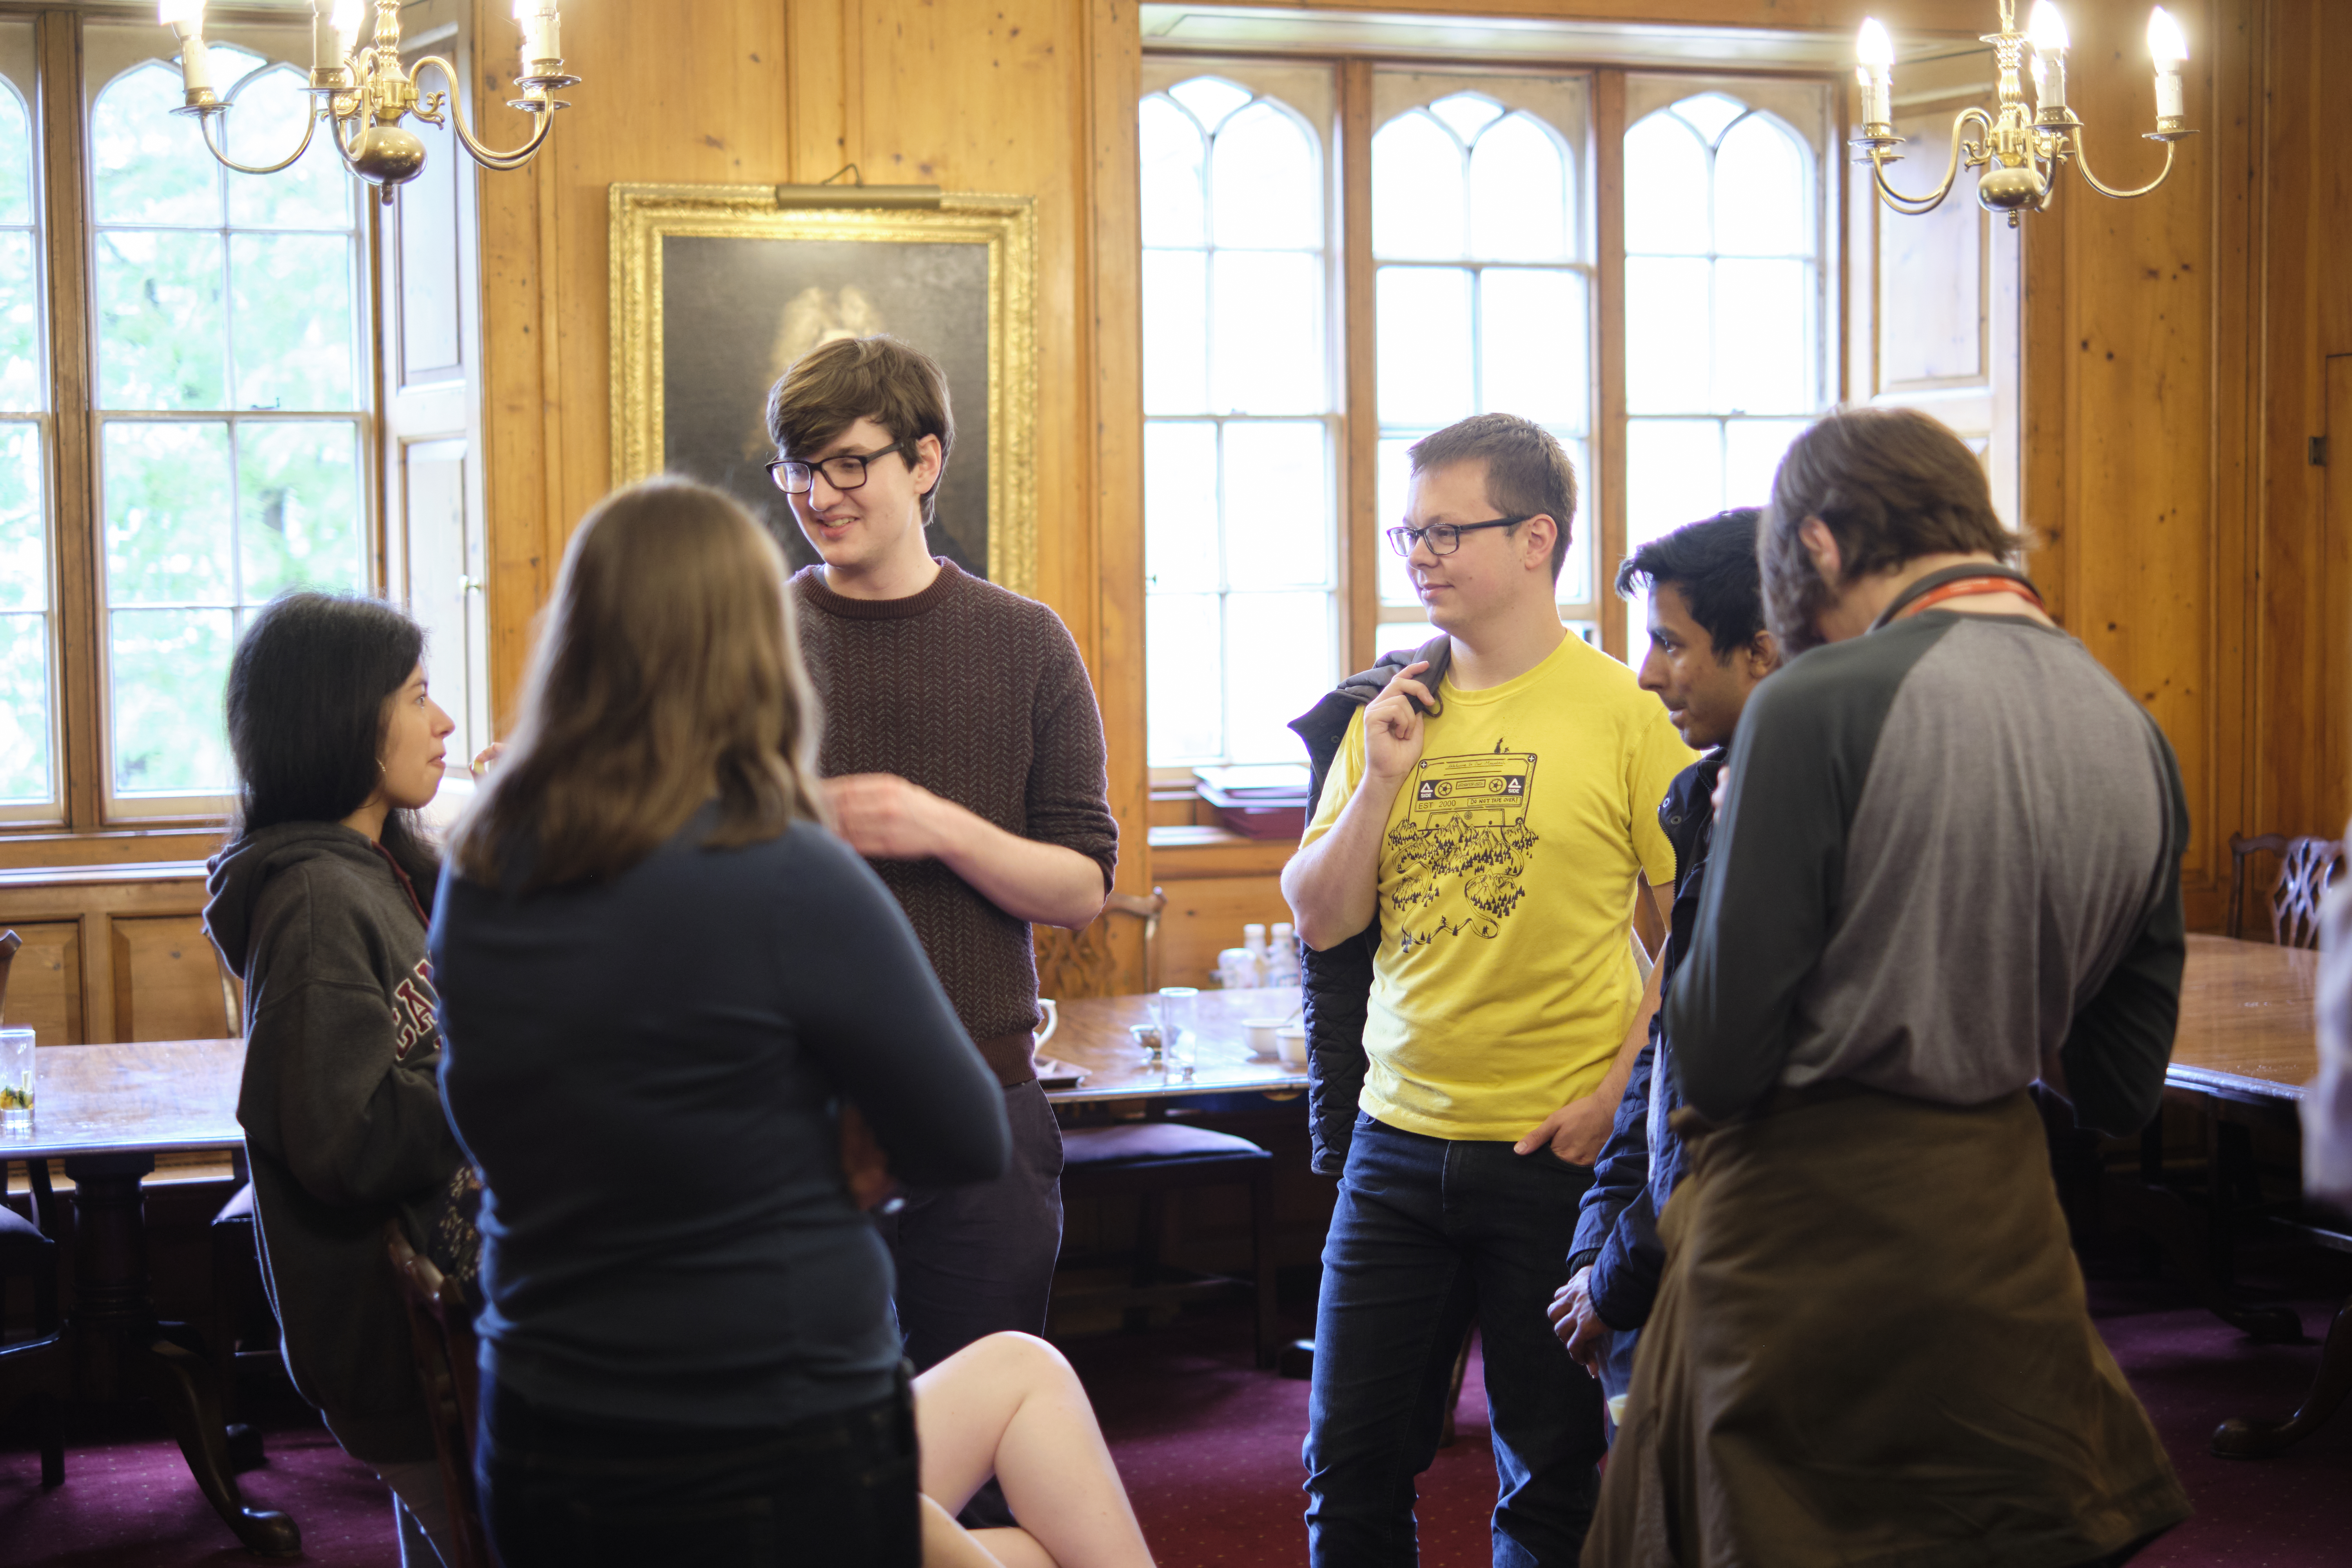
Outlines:
{"type": "MultiPolygon", "coordinates": [[[[2305,1331],[2333,1300],[2305,1293],[2305,1331]]],[[[2164,1286],[2100,1284],[2100,1328],[2147,1401],[2197,1519],[2138,1561],[2147,1568],[2343,1568],[2352,1561],[2352,1408],[2279,1460],[2225,1462],[2206,1436],[2227,1415],[2284,1415],[2310,1385],[2317,1345],[2253,1345],[2164,1286]]],[[[1305,1561],[1298,1439],[1308,1387],[1249,1366],[1244,1316],[1070,1345],[1162,1568],[1270,1568],[1305,1561]]],[[[270,1460],[247,1495],[301,1523],[306,1561],[393,1568],[390,1505],[374,1479],[301,1420],[282,1389],[259,1392],[270,1460]]],[[[21,1420],[0,1429],[0,1566],[183,1568],[245,1563],[179,1460],[139,1410],[78,1420],[66,1486],[40,1490],[21,1420]]],[[[1421,1561],[1489,1561],[1494,1458],[1477,1363],[1461,1441],[1421,1483],[1421,1561]]],[[[1070,1566],[1082,1568],[1082,1566],[1070,1566]]]]}

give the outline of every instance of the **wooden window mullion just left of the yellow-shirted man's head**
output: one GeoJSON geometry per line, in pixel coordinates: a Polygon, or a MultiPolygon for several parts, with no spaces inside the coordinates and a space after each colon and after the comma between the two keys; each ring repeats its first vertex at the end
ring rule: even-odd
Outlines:
{"type": "Polygon", "coordinates": [[[1381,656],[1381,381],[1378,331],[1374,329],[1371,266],[1371,61],[1338,68],[1338,216],[1341,216],[1341,604],[1348,609],[1348,646],[1341,670],[1369,670],[1381,656]]]}

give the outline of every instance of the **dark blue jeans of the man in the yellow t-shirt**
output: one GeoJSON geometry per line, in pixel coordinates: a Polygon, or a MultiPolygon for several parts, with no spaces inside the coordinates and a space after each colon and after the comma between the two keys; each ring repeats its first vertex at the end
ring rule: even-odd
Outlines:
{"type": "Polygon", "coordinates": [[[1599,1385],[1543,1316],[1592,1171],[1550,1150],[1357,1117],[1324,1241],[1308,1399],[1308,1561],[1409,1568],[1414,1476],[1477,1321],[1494,1415],[1496,1568],[1571,1568],[1599,1490],[1599,1385]]]}

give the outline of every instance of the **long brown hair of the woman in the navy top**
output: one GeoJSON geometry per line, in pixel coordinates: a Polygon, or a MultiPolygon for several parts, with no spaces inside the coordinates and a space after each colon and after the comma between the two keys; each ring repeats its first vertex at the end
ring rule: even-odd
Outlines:
{"type": "Polygon", "coordinates": [[[706,484],[633,484],[564,550],[522,719],[452,860],[485,886],[616,877],[713,792],[710,846],[771,839],[823,820],[816,729],[776,541],[706,484]]]}

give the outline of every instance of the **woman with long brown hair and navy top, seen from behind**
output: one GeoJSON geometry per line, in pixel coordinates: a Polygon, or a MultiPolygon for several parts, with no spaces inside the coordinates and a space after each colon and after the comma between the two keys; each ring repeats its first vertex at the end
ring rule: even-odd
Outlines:
{"type": "Polygon", "coordinates": [[[997,1173],[1007,1126],[896,900],[826,832],[814,750],[760,524],[682,480],[600,503],[433,929],[510,1568],[917,1561],[840,1114],[922,1182],[997,1173]]]}

